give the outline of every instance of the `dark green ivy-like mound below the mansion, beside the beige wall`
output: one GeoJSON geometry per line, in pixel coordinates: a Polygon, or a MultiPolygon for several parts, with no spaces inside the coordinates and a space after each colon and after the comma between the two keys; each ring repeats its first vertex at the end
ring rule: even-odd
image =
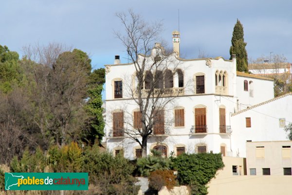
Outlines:
{"type": "Polygon", "coordinates": [[[190,185],[194,195],[208,194],[206,184],[224,167],[221,154],[183,154],[172,161],[180,184],[190,185]]]}

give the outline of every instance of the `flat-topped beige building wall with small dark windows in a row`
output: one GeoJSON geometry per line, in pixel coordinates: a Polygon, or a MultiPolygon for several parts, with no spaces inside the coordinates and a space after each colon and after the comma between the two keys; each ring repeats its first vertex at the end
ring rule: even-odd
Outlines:
{"type": "Polygon", "coordinates": [[[271,175],[283,176],[283,168],[292,167],[292,141],[246,142],[247,175],[256,169],[262,176],[262,168],[270,168],[271,175]],[[283,148],[290,146],[291,148],[283,148]]]}

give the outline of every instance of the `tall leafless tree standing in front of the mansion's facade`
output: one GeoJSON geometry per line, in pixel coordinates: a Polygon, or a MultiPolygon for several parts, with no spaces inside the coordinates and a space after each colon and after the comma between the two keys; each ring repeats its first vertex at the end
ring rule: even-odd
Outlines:
{"type": "MultiPolygon", "coordinates": [[[[134,113],[135,117],[128,113],[128,116],[132,117],[125,118],[127,127],[122,131],[139,143],[142,156],[146,156],[150,135],[164,134],[166,131],[166,105],[183,90],[173,88],[173,73],[169,70],[176,70],[177,60],[173,60],[174,53],[170,54],[160,43],[155,43],[162,29],[161,22],[148,24],[132,10],[127,14],[118,13],[116,16],[123,24],[125,33],[115,32],[115,35],[125,46],[136,71],[133,82],[126,83],[126,89],[139,107],[139,111],[134,113]]],[[[124,111],[127,112],[127,109],[124,111]]]]}

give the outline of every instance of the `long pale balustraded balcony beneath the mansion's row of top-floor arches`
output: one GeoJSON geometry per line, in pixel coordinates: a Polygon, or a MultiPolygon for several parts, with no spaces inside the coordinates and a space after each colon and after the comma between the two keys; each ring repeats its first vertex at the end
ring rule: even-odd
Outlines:
{"type": "MultiPolygon", "coordinates": [[[[142,98],[146,98],[150,93],[150,89],[142,89],[142,98]]],[[[162,88],[162,89],[154,89],[153,95],[156,96],[181,96],[184,95],[184,88],[162,88]]],[[[138,97],[138,92],[135,92],[135,96],[138,97]]]]}

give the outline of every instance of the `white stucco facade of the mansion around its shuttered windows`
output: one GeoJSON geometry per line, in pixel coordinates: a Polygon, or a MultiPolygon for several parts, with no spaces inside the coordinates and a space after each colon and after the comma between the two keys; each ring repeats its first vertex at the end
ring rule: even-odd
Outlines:
{"type": "MultiPolygon", "coordinates": [[[[151,62],[151,59],[147,60],[151,62]]],[[[241,122],[241,124],[233,123],[232,119],[234,117],[230,116],[237,111],[237,99],[239,99],[239,103],[254,105],[273,98],[273,81],[237,77],[236,59],[210,59],[210,66],[208,66],[209,64],[206,64],[207,59],[184,60],[176,59],[173,55],[168,60],[171,62],[167,65],[169,70],[174,72],[174,69],[179,68],[183,71],[184,95],[175,98],[164,108],[165,129],[169,130],[170,134],[164,136],[152,136],[147,143],[147,153],[149,154],[151,147],[157,143],[167,145],[168,154],[170,151],[175,151],[177,144],[182,144],[186,148],[186,152],[194,153],[196,144],[203,143],[207,145],[207,152],[212,151],[214,153],[219,153],[220,145],[223,144],[226,146],[226,156],[236,156],[238,148],[240,148],[239,156],[245,156],[245,153],[241,153],[241,148],[243,148],[241,138],[244,139],[243,143],[245,143],[246,139],[245,137],[240,137],[241,134],[237,133],[237,131],[239,131],[238,128],[241,128],[240,125],[245,125],[245,121],[243,123],[238,119],[238,122],[241,122]],[[216,94],[216,71],[226,71],[228,74],[226,83],[228,93],[225,95],[216,94]],[[205,76],[204,94],[195,93],[194,78],[197,74],[205,76]],[[244,79],[247,79],[248,81],[252,80],[254,82],[254,98],[249,98],[249,93],[243,90],[244,79]],[[198,105],[206,107],[206,123],[208,129],[206,134],[194,135],[190,134],[190,129],[192,125],[195,124],[194,108],[198,105]],[[174,128],[173,124],[173,109],[178,106],[184,108],[185,121],[183,128],[174,128]],[[235,134],[232,133],[231,136],[229,134],[219,133],[219,106],[225,107],[226,125],[231,125],[232,131],[236,132],[235,134]],[[237,140],[240,140],[238,144],[237,140]]],[[[125,157],[134,158],[134,148],[139,146],[138,143],[133,142],[133,140],[130,140],[127,137],[109,137],[109,133],[112,130],[112,112],[114,110],[120,109],[124,112],[124,128],[128,129],[132,124],[132,111],[138,108],[137,104],[130,96],[135,68],[133,64],[106,65],[106,72],[107,148],[109,151],[114,151],[116,147],[121,147],[124,150],[125,157]],[[114,99],[113,80],[115,79],[121,79],[123,81],[123,98],[114,99]]],[[[264,133],[261,132],[259,134],[264,133]]]]}

